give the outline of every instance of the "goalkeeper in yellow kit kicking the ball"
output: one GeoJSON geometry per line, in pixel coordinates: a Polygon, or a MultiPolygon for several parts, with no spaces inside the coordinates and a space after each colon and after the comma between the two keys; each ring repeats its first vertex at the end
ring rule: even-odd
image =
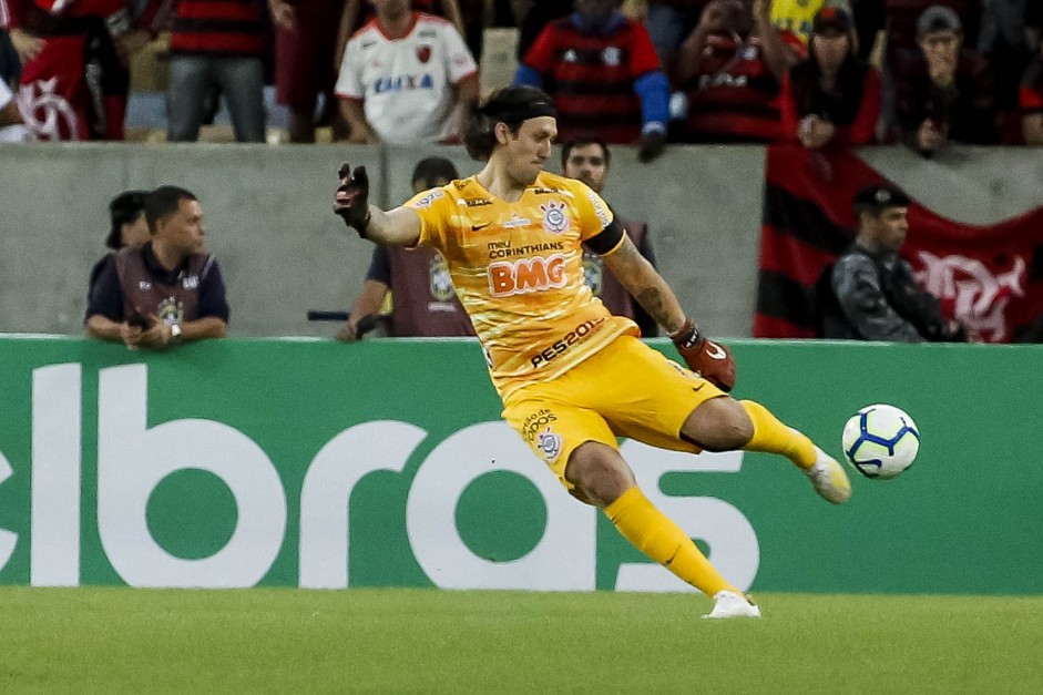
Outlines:
{"type": "Polygon", "coordinates": [[[368,204],[364,167],[340,170],[334,212],[379,244],[427,245],[446,258],[478,334],[503,417],[583,502],[604,510],[638,550],[708,596],[707,617],[757,617],[685,532],[656,509],[617,437],[678,451],[779,453],[834,503],[843,469],[764,406],[727,396],[728,349],[707,339],[673,290],[585,184],[543,171],[558,133],[550,96],[530,86],[491,94],[464,135],[484,167],[385,212],[368,204]],[[583,282],[582,244],[669,331],[684,369],[641,343],[583,282]]]}

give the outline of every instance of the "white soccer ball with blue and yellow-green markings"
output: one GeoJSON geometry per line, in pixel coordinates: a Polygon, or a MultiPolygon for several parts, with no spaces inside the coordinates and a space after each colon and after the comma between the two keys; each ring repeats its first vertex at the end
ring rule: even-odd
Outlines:
{"type": "Polygon", "coordinates": [[[843,426],[843,458],[866,478],[894,478],[920,451],[920,430],[894,406],[866,406],[843,426]]]}

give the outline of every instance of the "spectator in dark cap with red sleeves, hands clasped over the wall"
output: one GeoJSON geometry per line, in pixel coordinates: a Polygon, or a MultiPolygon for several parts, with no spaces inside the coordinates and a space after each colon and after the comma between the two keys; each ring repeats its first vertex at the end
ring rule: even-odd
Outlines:
{"type": "Polygon", "coordinates": [[[783,133],[808,149],[865,145],[880,117],[880,75],[858,59],[847,10],[815,16],[808,58],[783,79],[783,133]]]}

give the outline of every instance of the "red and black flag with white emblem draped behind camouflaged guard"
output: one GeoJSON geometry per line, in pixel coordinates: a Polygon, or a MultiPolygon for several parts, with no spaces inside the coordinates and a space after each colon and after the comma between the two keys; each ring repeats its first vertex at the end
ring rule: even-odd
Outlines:
{"type": "MultiPolygon", "coordinates": [[[[855,237],[855,193],[882,181],[850,152],[768,149],[755,337],[815,337],[815,283],[855,237]]],[[[1040,330],[1043,207],[973,226],[913,201],[901,255],[972,338],[1012,343],[1040,330]]]]}

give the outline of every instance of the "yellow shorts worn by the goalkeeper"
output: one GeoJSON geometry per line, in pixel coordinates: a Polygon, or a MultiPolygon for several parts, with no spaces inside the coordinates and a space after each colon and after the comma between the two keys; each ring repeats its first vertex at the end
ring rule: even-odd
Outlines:
{"type": "Polygon", "coordinates": [[[724,395],[637,338],[620,336],[556,379],[513,391],[502,415],[572,490],[565,466],[587,441],[618,450],[616,438],[626,437],[697,453],[681,439],[681,427],[702,402],[724,395]]]}

